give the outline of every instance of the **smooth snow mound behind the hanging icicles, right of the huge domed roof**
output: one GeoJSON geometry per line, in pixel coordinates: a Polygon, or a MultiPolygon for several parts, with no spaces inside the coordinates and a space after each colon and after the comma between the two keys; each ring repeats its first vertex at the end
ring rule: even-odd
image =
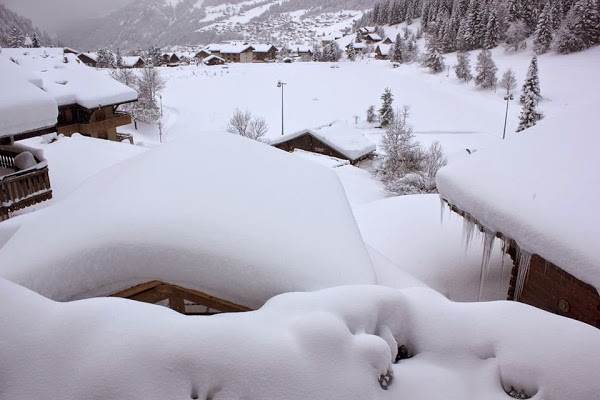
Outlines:
{"type": "MultiPolygon", "coordinates": [[[[365,242],[404,272],[420,279],[455,301],[477,301],[483,243],[465,251],[462,219],[445,216],[440,221],[437,195],[391,197],[354,208],[365,242]]],[[[499,243],[490,261],[482,300],[506,298],[510,260],[502,256],[499,243]]],[[[394,286],[385,279],[382,285],[394,286]]]]}

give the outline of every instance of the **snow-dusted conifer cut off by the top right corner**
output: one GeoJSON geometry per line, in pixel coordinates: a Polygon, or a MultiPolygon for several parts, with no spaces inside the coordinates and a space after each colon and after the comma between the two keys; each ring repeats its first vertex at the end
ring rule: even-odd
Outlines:
{"type": "Polygon", "coordinates": [[[600,12],[595,0],[578,0],[559,28],[554,48],[567,54],[600,43],[600,12]]]}

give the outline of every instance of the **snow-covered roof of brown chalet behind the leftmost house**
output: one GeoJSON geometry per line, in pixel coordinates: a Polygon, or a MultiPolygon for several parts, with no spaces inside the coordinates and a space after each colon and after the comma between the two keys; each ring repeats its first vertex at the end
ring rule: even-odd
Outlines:
{"type": "MultiPolygon", "coordinates": [[[[79,104],[96,108],[137,100],[137,92],[112,79],[107,74],[77,62],[74,54],[56,52],[32,52],[40,49],[11,49],[14,59],[24,69],[38,73],[42,87],[56,99],[59,106],[79,104]],[[65,63],[64,60],[67,60],[65,63]]],[[[7,56],[11,52],[2,52],[7,56]]]]}

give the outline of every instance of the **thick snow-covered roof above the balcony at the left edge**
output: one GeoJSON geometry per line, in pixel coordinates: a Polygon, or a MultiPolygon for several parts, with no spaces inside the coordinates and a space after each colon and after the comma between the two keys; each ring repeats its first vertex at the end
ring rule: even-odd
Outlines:
{"type": "Polygon", "coordinates": [[[0,137],[56,125],[56,101],[28,78],[30,73],[0,56],[0,137]]]}

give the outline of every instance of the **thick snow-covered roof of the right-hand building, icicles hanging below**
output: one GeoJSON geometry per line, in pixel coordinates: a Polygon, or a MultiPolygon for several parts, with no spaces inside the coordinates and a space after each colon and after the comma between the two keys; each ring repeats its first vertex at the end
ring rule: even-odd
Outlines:
{"type": "Polygon", "coordinates": [[[440,196],[600,288],[600,137],[535,128],[441,169],[440,196]]]}

